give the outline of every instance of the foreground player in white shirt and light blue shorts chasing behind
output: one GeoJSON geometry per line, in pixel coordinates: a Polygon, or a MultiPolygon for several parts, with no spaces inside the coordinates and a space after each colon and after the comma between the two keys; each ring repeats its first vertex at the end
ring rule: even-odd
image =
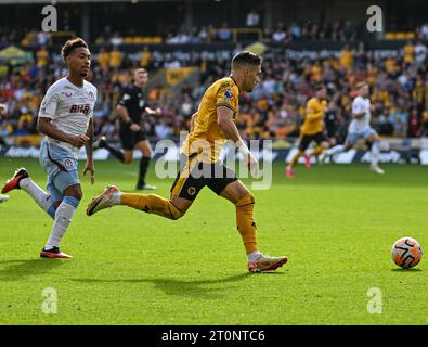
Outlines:
{"type": "Polygon", "coordinates": [[[91,54],[80,38],[68,40],[61,54],[68,66],[68,75],[48,89],[38,116],[38,130],[46,134],[39,160],[48,174],[50,194],[29,178],[25,168],[17,169],[1,191],[23,189],[53,218],[51,234],[40,253],[46,258],[70,258],[60,252],[60,243],[82,197],[77,155],[83,145],[88,157],[83,175],[89,171],[91,183],[94,181],[92,114],[96,88],[85,80],[91,54]]]}

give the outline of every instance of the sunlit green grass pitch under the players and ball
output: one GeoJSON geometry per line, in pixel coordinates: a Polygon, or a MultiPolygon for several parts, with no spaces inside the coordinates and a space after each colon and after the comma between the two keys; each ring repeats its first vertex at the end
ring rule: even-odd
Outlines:
{"type": "MultiPolygon", "coordinates": [[[[428,247],[427,167],[385,165],[380,177],[368,165],[299,165],[287,181],[275,164],[271,189],[254,191],[259,246],[290,261],[249,274],[231,203],[205,189],[178,221],[127,207],[87,217],[107,183],[133,192],[138,170],[95,165],[62,244],[73,259],[39,258],[52,221],[24,192],[0,204],[1,324],[428,323],[426,256],[411,270],[391,260],[401,236],[428,247]],[[47,287],[56,313],[42,311],[47,287]],[[381,291],[381,313],[367,311],[369,288],[381,291]]],[[[44,188],[36,159],[1,158],[0,180],[21,166],[44,188]]],[[[172,179],[151,168],[148,182],[168,196],[172,179]]]]}

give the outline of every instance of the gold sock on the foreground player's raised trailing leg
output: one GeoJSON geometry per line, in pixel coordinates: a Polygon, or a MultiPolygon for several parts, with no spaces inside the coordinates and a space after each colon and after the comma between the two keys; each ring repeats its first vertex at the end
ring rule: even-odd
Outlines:
{"type": "Polygon", "coordinates": [[[121,194],[120,205],[127,205],[147,214],[155,214],[169,219],[179,219],[184,215],[170,201],[156,194],[121,194]]]}

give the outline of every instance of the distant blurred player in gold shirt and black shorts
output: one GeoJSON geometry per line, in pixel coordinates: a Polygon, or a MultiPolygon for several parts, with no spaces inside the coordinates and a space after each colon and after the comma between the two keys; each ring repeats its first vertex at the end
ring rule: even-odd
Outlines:
{"type": "Polygon", "coordinates": [[[289,179],[295,178],[294,167],[300,156],[303,156],[304,165],[309,169],[311,167],[311,157],[320,155],[329,146],[328,139],[324,133],[324,114],[327,111],[326,97],[327,89],[325,86],[317,86],[315,88],[315,97],[311,98],[307,103],[304,121],[300,127],[299,151],[285,169],[285,175],[289,179]],[[315,141],[317,146],[308,155],[304,151],[312,141],[315,141]]]}

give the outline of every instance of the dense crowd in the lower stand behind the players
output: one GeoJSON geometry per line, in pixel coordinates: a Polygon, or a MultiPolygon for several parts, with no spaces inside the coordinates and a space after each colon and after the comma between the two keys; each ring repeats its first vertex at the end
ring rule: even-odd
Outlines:
{"type": "MultiPolygon", "coordinates": [[[[304,117],[306,101],[317,83],[328,88],[325,117],[328,136],[343,141],[350,121],[354,86],[366,80],[371,86],[373,126],[380,136],[415,138],[428,136],[428,50],[421,42],[407,42],[397,56],[375,56],[360,43],[356,50],[343,46],[337,56],[289,56],[284,49],[264,54],[263,77],[250,94],[241,97],[238,128],[248,139],[286,139],[298,136],[304,117]]],[[[190,116],[197,110],[206,88],[229,74],[229,57],[208,61],[194,59],[189,65],[199,67],[200,80],[181,89],[180,98],[170,99],[167,89],[155,88],[147,94],[151,107],[160,106],[163,116],[145,116],[150,136],[163,139],[189,129],[190,116]]],[[[99,89],[94,110],[95,134],[118,137],[115,112],[121,88],[131,82],[132,67],[145,67],[151,75],[172,64],[159,62],[148,47],[137,56],[117,48],[93,54],[90,81],[99,89]]],[[[172,64],[173,65],[173,64],[172,64]]],[[[182,66],[179,63],[177,67],[182,66]]],[[[0,140],[11,136],[36,133],[36,119],[47,88],[66,70],[59,54],[41,47],[35,61],[20,68],[10,67],[0,78],[0,103],[8,112],[0,120],[0,140]]]]}

